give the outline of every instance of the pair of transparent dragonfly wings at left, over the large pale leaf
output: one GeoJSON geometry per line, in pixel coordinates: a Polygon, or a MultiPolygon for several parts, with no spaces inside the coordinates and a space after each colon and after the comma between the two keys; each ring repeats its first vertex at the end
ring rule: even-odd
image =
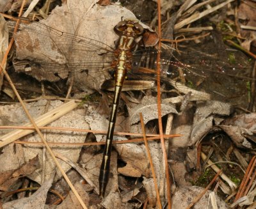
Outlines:
{"type": "MultiPolygon", "coordinates": [[[[15,22],[9,22],[13,27],[15,22]]],[[[100,89],[109,79],[113,49],[91,38],[58,31],[40,22],[21,23],[14,35],[18,72],[26,72],[39,81],[58,81],[68,76],[83,80],[90,88],[100,89]]]]}

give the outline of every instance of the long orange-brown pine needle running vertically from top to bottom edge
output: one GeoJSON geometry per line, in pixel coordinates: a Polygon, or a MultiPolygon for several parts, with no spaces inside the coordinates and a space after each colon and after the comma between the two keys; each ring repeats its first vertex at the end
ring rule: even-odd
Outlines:
{"type": "MultiPolygon", "coordinates": [[[[161,40],[161,1],[157,0],[157,12],[158,12],[158,36],[159,40],[161,40]]],[[[160,87],[160,58],[161,58],[161,42],[158,42],[158,52],[157,52],[157,112],[158,112],[158,124],[159,124],[159,135],[161,139],[161,146],[163,150],[163,158],[165,165],[165,173],[166,173],[166,185],[167,185],[167,199],[168,199],[168,208],[172,208],[171,202],[171,185],[170,185],[170,174],[169,174],[169,166],[167,160],[167,153],[164,146],[164,137],[163,137],[163,123],[161,116],[161,87],[160,87]]]]}

